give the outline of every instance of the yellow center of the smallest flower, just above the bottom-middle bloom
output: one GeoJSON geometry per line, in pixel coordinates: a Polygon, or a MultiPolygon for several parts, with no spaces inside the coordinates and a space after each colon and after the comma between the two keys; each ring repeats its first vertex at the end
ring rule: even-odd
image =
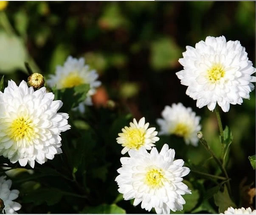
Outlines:
{"type": "Polygon", "coordinates": [[[138,150],[144,145],[145,134],[143,128],[127,128],[127,131],[124,132],[124,138],[126,139],[124,146],[138,150]]]}

